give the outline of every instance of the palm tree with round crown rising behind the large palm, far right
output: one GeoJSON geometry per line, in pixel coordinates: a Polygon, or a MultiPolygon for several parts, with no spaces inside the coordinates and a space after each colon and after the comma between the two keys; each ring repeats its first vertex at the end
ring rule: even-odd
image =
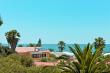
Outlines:
{"type": "Polygon", "coordinates": [[[105,48],[105,40],[102,37],[95,38],[94,42],[95,49],[101,48],[101,53],[103,48],[105,48]]]}

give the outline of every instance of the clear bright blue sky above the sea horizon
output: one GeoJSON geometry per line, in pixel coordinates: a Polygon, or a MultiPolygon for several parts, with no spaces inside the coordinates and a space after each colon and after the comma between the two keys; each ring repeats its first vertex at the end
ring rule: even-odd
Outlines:
{"type": "Polygon", "coordinates": [[[16,29],[19,43],[92,43],[103,37],[110,43],[110,0],[0,0],[0,42],[16,29]]]}

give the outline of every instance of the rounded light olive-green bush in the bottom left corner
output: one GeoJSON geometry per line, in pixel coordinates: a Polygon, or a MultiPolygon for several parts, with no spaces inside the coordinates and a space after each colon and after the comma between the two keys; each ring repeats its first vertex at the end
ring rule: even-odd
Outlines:
{"type": "Polygon", "coordinates": [[[8,57],[0,58],[0,73],[26,73],[22,64],[8,57]]]}

